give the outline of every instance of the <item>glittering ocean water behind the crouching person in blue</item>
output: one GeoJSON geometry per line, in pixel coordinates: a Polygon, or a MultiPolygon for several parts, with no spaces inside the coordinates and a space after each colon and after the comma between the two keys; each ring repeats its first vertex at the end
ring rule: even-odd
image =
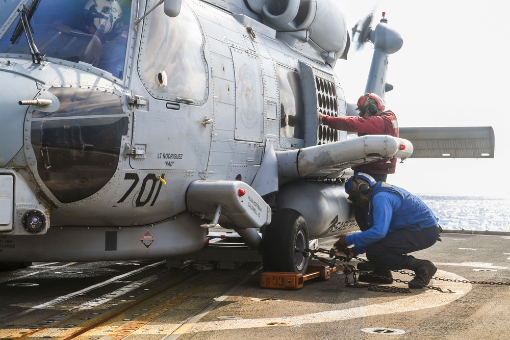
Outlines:
{"type": "Polygon", "coordinates": [[[443,229],[510,231],[510,198],[417,194],[443,229]]]}

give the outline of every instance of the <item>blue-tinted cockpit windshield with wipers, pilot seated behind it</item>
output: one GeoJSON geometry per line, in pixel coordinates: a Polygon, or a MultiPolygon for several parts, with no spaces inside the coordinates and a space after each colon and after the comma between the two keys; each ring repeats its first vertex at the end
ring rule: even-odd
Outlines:
{"type": "Polygon", "coordinates": [[[2,5],[7,11],[0,14],[0,25],[9,28],[0,31],[1,54],[32,53],[20,22],[19,11],[24,11],[33,42],[44,58],[91,64],[122,79],[131,0],[32,0],[24,9],[18,3],[7,0],[2,5]],[[16,16],[8,17],[16,7],[16,16]]]}

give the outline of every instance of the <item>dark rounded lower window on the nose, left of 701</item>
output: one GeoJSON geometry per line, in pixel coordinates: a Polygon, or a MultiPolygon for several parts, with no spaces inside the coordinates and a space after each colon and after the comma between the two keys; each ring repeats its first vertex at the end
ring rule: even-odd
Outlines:
{"type": "Polygon", "coordinates": [[[95,194],[115,174],[129,120],[114,93],[49,91],[59,98],[59,110],[32,114],[37,172],[60,202],[76,202],[95,194]]]}

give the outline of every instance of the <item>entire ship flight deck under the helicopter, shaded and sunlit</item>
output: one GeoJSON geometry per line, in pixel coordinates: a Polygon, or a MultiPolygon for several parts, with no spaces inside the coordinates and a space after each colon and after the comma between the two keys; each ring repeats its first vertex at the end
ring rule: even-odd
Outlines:
{"type": "Polygon", "coordinates": [[[436,264],[435,277],[447,281],[430,285],[447,293],[351,288],[342,272],[298,290],[267,289],[256,263],[212,270],[166,268],[161,259],[34,264],[0,273],[0,338],[507,339],[510,234],[444,232],[442,240],[413,255],[436,264]]]}

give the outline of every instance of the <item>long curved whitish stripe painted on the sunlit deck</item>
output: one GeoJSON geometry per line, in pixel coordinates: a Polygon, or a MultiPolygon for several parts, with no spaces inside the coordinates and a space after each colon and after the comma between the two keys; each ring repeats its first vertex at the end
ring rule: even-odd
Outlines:
{"type": "MultiPolygon", "coordinates": [[[[437,276],[448,279],[465,280],[465,278],[453,273],[438,270],[437,276]]],[[[377,303],[366,306],[342,309],[343,304],[337,304],[337,309],[322,311],[317,313],[309,313],[298,316],[288,316],[285,318],[267,318],[267,319],[240,319],[240,320],[221,320],[210,322],[196,322],[188,325],[186,331],[189,333],[197,333],[204,331],[224,330],[224,329],[245,329],[256,327],[272,327],[268,323],[297,323],[297,324],[314,324],[337,322],[355,318],[366,318],[369,316],[385,315],[392,313],[401,313],[424,308],[433,308],[451,303],[466,293],[471,291],[472,285],[466,283],[441,282],[445,283],[441,288],[446,291],[450,289],[459,294],[434,294],[434,291],[423,290],[423,293],[412,295],[406,298],[389,301],[387,303],[377,303]],[[462,292],[461,292],[462,290],[462,292]],[[433,296],[431,294],[434,294],[433,296]]],[[[434,284],[434,281],[431,282],[434,284]]],[[[285,303],[285,301],[283,301],[285,303]]],[[[332,306],[335,306],[334,304],[332,306]]],[[[303,308],[304,309],[304,308],[303,308]]]]}

